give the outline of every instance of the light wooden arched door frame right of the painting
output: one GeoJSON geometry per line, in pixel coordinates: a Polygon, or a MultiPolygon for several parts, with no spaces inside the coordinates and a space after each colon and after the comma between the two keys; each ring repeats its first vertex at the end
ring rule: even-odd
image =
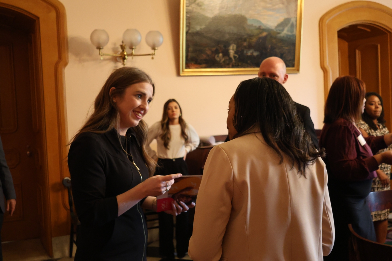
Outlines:
{"type": "MultiPolygon", "coordinates": [[[[388,31],[392,43],[392,9],[370,1],[352,1],[338,5],[321,16],[319,21],[320,63],[324,72],[324,99],[339,77],[338,31],[352,24],[374,24],[388,31]]],[[[392,54],[390,53],[390,61],[392,54]]],[[[391,62],[389,64],[391,70],[391,62]]],[[[391,86],[391,79],[389,79],[391,86]]],[[[390,97],[388,97],[390,99],[390,97]]]]}

